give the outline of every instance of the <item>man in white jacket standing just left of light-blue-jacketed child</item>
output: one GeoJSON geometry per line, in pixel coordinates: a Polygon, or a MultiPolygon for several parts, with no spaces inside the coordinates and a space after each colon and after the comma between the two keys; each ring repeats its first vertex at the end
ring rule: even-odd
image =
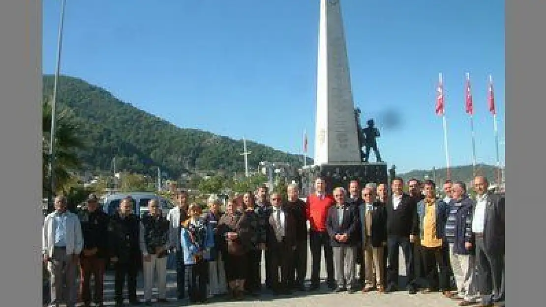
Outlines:
{"type": "Polygon", "coordinates": [[[170,209],[167,214],[169,221],[169,242],[171,250],[175,251],[176,259],[176,292],[179,300],[185,297],[186,266],[184,265],[184,255],[180,244],[180,225],[181,222],[188,219],[188,192],[178,191],[176,193],[177,206],[170,209]]]}

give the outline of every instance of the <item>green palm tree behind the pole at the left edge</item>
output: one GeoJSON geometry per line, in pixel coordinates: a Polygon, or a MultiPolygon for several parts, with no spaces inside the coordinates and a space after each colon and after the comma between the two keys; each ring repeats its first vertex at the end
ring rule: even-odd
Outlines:
{"type": "MultiPolygon", "coordinates": [[[[51,104],[44,101],[42,104],[42,172],[43,192],[49,194],[49,143],[51,131],[51,104]]],[[[55,180],[56,191],[64,191],[64,186],[70,182],[73,173],[81,167],[81,161],[76,154],[77,149],[83,149],[84,143],[77,134],[75,124],[69,109],[61,110],[56,116],[55,123],[55,180]]]]}

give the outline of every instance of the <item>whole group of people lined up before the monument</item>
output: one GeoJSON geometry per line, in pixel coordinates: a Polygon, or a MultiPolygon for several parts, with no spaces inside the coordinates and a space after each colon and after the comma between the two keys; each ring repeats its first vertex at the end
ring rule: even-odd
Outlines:
{"type": "Polygon", "coordinates": [[[260,186],[242,201],[228,200],[223,212],[221,201],[211,198],[206,213],[179,191],[166,217],[152,200],[142,218],[132,213],[129,197],[112,217],[102,212],[94,195],[79,215],[67,212],[66,198],[56,197],[56,210],[43,227],[51,304],[64,300],[75,306],[79,299],[85,306],[102,306],[108,264],[115,269],[116,306],[124,303],[125,279],[129,303],[141,303],[136,297],[140,268],[144,303],[151,305],[156,272],[157,302],[167,302],[169,256],[175,258],[179,300],[259,296],[262,258],[265,287],[275,296],[314,291],[320,287],[322,251],[331,290],[388,293],[399,288],[401,248],[409,293],[440,291],[460,306],[502,305],[504,197],[488,192],[482,176],[474,178],[473,186],[476,200],[463,182],[446,182],[440,198],[431,180],[411,179],[406,193],[401,178],[391,181],[390,192],[386,184],[367,183],[361,189],[352,181],[328,195],[325,180],[317,178],[305,201],[298,198],[297,185],[287,187],[287,199],[260,186]],[[311,284],[306,287],[309,249],[311,284]]]}

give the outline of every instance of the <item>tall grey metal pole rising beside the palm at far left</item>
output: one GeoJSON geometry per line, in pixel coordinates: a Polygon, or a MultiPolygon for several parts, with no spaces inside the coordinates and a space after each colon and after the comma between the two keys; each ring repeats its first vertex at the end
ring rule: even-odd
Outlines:
{"type": "Polygon", "coordinates": [[[61,70],[61,50],[63,41],[63,27],[64,27],[64,8],[66,7],[66,0],[61,2],[61,23],[59,25],[59,33],[57,39],[57,65],[55,68],[55,81],[53,85],[53,99],[51,101],[51,128],[49,139],[49,199],[48,199],[48,212],[53,208],[53,197],[56,190],[55,182],[55,121],[57,112],[57,85],[59,79],[59,72],[61,70]]]}

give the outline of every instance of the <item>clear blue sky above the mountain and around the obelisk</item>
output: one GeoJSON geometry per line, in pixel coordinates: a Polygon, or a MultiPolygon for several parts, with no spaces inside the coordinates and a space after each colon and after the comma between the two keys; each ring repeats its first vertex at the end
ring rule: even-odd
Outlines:
{"type": "MultiPolygon", "coordinates": [[[[43,2],[43,71],[54,73],[60,0],[43,2]]],[[[501,161],[505,10],[501,1],[342,1],[355,105],[376,118],[384,160],[400,172],[444,167],[444,75],[451,165],[495,164],[486,81],[495,82],[501,161]],[[385,114],[400,117],[385,127],[385,114]]],[[[104,87],[182,128],[300,153],[314,149],[318,0],[67,0],[62,74],[104,87]]],[[[242,151],[242,148],[241,148],[242,151]]],[[[242,157],[241,157],[242,159],[242,157]]]]}

